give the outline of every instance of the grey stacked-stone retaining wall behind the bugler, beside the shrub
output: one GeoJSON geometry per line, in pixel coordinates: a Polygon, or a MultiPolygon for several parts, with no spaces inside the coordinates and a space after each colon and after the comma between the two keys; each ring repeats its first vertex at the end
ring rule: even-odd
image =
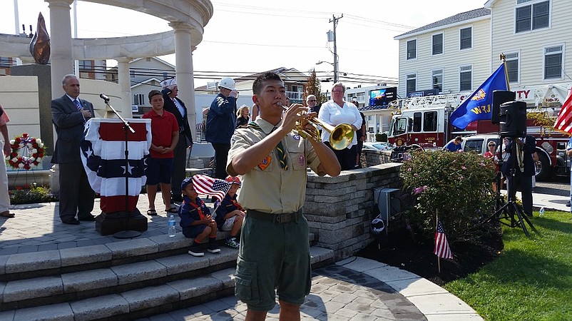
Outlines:
{"type": "Polygon", "coordinates": [[[399,163],[345,170],[337,177],[309,173],[304,213],[315,245],[334,250],[334,261],[354,255],[374,240],[369,232],[374,188],[401,188],[399,163]]]}

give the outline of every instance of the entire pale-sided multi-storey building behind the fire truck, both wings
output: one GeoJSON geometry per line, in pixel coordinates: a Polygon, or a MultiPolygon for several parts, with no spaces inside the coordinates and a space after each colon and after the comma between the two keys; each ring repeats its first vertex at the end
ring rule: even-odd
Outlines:
{"type": "Polygon", "coordinates": [[[511,91],[529,106],[558,105],[572,86],[570,0],[489,0],[396,36],[401,97],[471,93],[505,54],[511,91]]]}

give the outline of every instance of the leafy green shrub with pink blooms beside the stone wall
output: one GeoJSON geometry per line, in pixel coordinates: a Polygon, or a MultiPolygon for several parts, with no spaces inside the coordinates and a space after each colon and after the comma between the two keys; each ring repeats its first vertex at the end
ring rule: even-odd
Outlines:
{"type": "Polygon", "coordinates": [[[400,170],[404,189],[414,195],[414,206],[407,218],[416,232],[432,237],[435,215],[444,225],[447,237],[474,238],[479,221],[494,213],[491,182],[494,163],[476,153],[412,151],[400,170]]]}

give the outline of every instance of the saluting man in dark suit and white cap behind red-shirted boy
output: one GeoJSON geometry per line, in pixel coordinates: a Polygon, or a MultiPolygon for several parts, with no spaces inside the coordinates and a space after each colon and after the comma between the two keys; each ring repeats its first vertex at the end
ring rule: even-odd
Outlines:
{"type": "Polygon", "coordinates": [[[183,202],[183,191],[180,189],[180,183],[185,179],[185,161],[187,159],[187,148],[193,148],[193,134],[190,131],[189,121],[187,118],[187,107],[185,103],[177,98],[179,88],[175,78],[167,79],[161,82],[163,86],[163,109],[175,115],[179,125],[179,141],[175,146],[175,158],[173,159],[173,175],[171,175],[171,192],[173,194],[173,202],[183,202]]]}

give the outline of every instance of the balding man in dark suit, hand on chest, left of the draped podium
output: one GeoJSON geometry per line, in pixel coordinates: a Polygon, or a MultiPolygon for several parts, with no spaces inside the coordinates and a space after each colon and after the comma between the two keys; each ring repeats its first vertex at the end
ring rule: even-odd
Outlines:
{"type": "Polygon", "coordinates": [[[84,124],[94,113],[89,101],[78,98],[79,81],[75,75],[64,76],[61,83],[66,94],[51,101],[51,121],[58,134],[51,162],[59,164],[60,219],[78,225],[80,220],[96,220],[91,215],[95,193],[83,169],[79,148],[84,124]]]}

